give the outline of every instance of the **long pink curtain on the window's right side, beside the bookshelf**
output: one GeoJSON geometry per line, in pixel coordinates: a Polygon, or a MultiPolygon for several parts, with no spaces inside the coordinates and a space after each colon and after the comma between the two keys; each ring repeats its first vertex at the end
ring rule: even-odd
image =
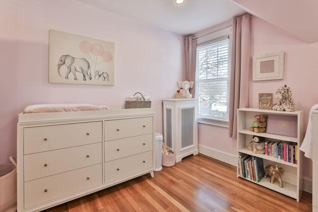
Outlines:
{"type": "Polygon", "coordinates": [[[229,136],[236,139],[238,108],[248,107],[250,14],[232,21],[229,136]]]}

